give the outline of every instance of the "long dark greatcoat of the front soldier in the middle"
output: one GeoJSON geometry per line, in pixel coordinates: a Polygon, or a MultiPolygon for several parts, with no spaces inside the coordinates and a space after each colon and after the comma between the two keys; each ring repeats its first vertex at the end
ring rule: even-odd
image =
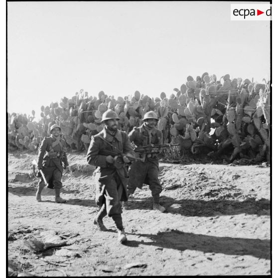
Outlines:
{"type": "Polygon", "coordinates": [[[96,181],[96,204],[102,206],[106,203],[108,216],[121,214],[122,206],[120,201],[128,200],[128,165],[123,163],[122,168],[116,168],[113,164],[106,161],[108,155],[103,155],[105,150],[119,151],[124,154],[135,156],[128,135],[117,130],[113,137],[106,128],[99,134],[92,136],[91,143],[87,152],[87,161],[89,164],[97,166],[94,171],[96,181]],[[113,147],[105,140],[110,142],[113,147]],[[120,193],[120,194],[119,194],[120,193]]]}

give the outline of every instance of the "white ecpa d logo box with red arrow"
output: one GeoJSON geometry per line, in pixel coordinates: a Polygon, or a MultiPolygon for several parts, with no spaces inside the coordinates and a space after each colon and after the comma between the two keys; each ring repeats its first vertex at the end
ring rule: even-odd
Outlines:
{"type": "Polygon", "coordinates": [[[231,20],[272,20],[271,4],[231,4],[231,20]]]}

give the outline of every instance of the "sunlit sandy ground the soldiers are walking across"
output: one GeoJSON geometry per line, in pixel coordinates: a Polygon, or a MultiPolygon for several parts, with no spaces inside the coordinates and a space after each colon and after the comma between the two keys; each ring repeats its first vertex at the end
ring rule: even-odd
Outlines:
{"type": "Polygon", "coordinates": [[[16,276],[270,275],[270,167],[160,163],[166,213],[151,210],[148,186],[124,210],[128,242],[117,242],[112,219],[100,232],[92,220],[93,167],[69,154],[61,196],[37,180],[30,153],[8,154],[8,260],[16,276]],[[34,252],[24,241],[54,231],[63,247],[34,252]],[[63,254],[64,253],[64,254],[63,254]],[[23,274],[22,274],[23,273],[23,274]]]}

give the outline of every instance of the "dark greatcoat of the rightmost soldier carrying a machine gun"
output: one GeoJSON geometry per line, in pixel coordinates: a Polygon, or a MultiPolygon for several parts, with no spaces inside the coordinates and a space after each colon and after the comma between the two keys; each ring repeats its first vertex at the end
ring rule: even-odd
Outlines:
{"type": "MultiPolygon", "coordinates": [[[[162,132],[155,128],[147,130],[144,128],[144,124],[139,128],[134,128],[130,132],[129,138],[137,146],[163,143],[162,132]]],[[[159,194],[162,187],[158,179],[158,169],[158,158],[155,154],[147,157],[145,162],[134,162],[129,171],[128,193],[133,194],[137,187],[142,188],[143,184],[148,184],[152,195],[159,194]]]]}

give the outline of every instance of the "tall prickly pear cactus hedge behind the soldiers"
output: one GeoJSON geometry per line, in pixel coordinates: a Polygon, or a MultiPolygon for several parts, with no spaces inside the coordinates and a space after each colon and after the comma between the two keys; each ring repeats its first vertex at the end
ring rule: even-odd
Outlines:
{"type": "Polygon", "coordinates": [[[185,155],[207,153],[229,162],[270,162],[270,82],[231,79],[226,74],[217,81],[207,72],[196,80],[188,76],[180,89],[166,97],[150,98],[136,91],[118,97],[103,91],[89,96],[81,90],[72,98],[41,106],[40,120],[26,114],[7,114],[8,146],[36,151],[49,127],[57,124],[71,149],[87,149],[92,135],[103,129],[103,113],[112,109],[119,115],[119,129],[130,132],[142,123],[150,110],[158,115],[157,127],[164,143],[179,143],[185,155]]]}

